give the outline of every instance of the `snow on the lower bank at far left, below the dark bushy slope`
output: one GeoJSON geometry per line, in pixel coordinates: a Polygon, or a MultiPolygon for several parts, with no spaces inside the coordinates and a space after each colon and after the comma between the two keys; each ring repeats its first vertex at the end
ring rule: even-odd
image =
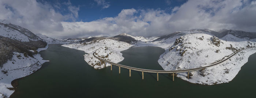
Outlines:
{"type": "Polygon", "coordinates": [[[12,80],[30,75],[41,68],[42,64],[46,62],[46,60],[42,60],[40,54],[33,56],[34,58],[25,57],[23,53],[13,52],[12,59],[8,60],[1,68],[0,98],[4,96],[10,97],[10,95],[14,93],[14,90],[8,89],[12,88],[12,80]],[[7,73],[4,73],[5,71],[7,73]]]}

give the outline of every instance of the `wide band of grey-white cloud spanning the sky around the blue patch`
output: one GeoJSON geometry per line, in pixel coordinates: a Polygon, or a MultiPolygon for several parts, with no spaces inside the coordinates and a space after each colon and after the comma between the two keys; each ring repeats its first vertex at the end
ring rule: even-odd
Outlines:
{"type": "MultiPolygon", "coordinates": [[[[30,0],[29,4],[11,4],[8,3],[10,0],[4,1],[0,1],[1,19],[12,20],[20,26],[25,25],[28,29],[40,31],[49,37],[120,33],[157,36],[190,29],[236,29],[256,32],[256,2],[249,0],[188,0],[181,6],[174,7],[171,13],[161,9],[132,8],[121,10],[115,17],[91,22],[64,22],[65,15],[34,0],[30,0]]],[[[71,11],[74,18],[77,10],[79,9],[76,9],[75,13],[71,11]]]]}

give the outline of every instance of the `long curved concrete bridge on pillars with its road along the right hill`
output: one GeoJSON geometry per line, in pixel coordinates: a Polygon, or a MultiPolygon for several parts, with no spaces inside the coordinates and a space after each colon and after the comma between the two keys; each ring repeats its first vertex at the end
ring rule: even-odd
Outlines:
{"type": "MultiPolygon", "coordinates": [[[[255,47],[253,47],[255,48],[255,47]]],[[[252,48],[247,48],[247,49],[252,49],[252,48]]],[[[246,50],[246,49],[242,49],[242,50],[246,50]]],[[[105,67],[106,67],[106,63],[109,63],[111,64],[110,65],[110,69],[112,70],[112,65],[115,65],[117,67],[119,67],[119,74],[120,74],[120,68],[125,68],[125,69],[129,69],[129,77],[131,77],[131,70],[134,70],[134,71],[140,71],[142,72],[142,79],[144,79],[144,72],[148,72],[148,73],[157,73],[157,81],[158,81],[158,73],[172,73],[172,76],[173,76],[173,81],[174,81],[174,73],[182,73],[182,72],[188,72],[188,79],[189,79],[189,72],[192,72],[192,71],[198,71],[198,70],[204,70],[208,67],[212,67],[212,66],[215,66],[215,65],[218,65],[228,59],[230,59],[232,56],[236,55],[238,52],[241,52],[242,50],[238,50],[236,53],[232,54],[231,56],[229,56],[228,58],[224,59],[224,60],[221,60],[217,63],[214,63],[214,64],[211,64],[211,65],[208,65],[208,66],[205,66],[205,67],[198,67],[198,68],[191,68],[191,69],[183,69],[183,70],[171,70],[171,71],[165,71],[165,70],[149,70],[149,69],[141,69],[141,68],[135,68],[135,67],[129,67],[129,66],[125,66],[125,65],[121,65],[121,64],[117,64],[117,63],[113,63],[111,61],[108,61],[108,60],[105,60],[105,59],[102,59],[100,57],[97,57],[95,56],[95,52],[93,53],[93,56],[96,57],[97,59],[99,59],[101,62],[103,62],[105,64],[105,67]]]]}

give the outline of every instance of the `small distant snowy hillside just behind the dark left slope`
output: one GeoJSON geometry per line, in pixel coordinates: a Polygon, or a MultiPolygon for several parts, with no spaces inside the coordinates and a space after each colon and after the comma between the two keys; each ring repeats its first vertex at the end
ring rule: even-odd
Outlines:
{"type": "Polygon", "coordinates": [[[47,44],[68,44],[70,42],[67,41],[62,41],[59,39],[55,39],[55,38],[50,38],[46,35],[42,35],[42,34],[36,34],[39,38],[43,39],[44,41],[46,41],[47,44]]]}

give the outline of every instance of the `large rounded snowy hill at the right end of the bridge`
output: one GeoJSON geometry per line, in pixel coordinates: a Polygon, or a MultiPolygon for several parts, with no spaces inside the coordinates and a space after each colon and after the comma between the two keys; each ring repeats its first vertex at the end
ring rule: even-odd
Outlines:
{"type": "MultiPolygon", "coordinates": [[[[255,47],[256,43],[223,41],[208,34],[188,34],[177,38],[172,44],[158,60],[164,70],[204,67],[221,61],[238,50],[255,47]]],[[[178,77],[199,84],[226,83],[236,76],[241,66],[247,62],[248,56],[255,52],[256,50],[245,50],[240,56],[225,61],[226,64],[207,68],[205,71],[194,71],[189,80],[185,77],[187,73],[178,73],[178,77]]]]}

